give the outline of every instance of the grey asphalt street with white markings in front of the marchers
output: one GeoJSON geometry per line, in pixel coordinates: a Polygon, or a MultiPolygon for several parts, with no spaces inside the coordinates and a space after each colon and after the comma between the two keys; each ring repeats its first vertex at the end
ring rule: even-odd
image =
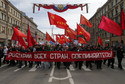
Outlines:
{"type": "Polygon", "coordinates": [[[124,70],[117,68],[117,62],[115,69],[103,65],[102,70],[97,70],[95,64],[93,70],[87,69],[84,64],[79,70],[74,68],[73,63],[70,70],[65,69],[63,64],[61,69],[55,66],[50,69],[35,67],[35,64],[32,68],[3,64],[0,67],[0,84],[125,84],[125,58],[124,70]]]}

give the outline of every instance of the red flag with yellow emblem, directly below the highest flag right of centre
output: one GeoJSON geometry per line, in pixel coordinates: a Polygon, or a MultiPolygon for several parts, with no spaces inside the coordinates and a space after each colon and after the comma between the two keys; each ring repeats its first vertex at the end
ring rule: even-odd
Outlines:
{"type": "Polygon", "coordinates": [[[90,40],[90,33],[87,32],[84,28],[82,28],[80,25],[77,24],[77,34],[83,35],[86,39],[86,41],[90,40]]]}

